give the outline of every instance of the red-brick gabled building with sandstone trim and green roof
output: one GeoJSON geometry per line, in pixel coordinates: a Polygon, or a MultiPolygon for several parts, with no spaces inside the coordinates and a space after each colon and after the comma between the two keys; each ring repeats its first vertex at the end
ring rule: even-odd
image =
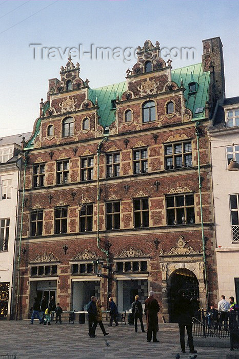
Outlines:
{"type": "Polygon", "coordinates": [[[93,294],[104,307],[112,295],[123,311],[136,294],[144,304],[152,289],[169,321],[178,289],[195,308],[206,307],[206,295],[217,298],[207,127],[224,93],[222,44],[207,39],[201,64],[175,70],[159,45],[138,47],[126,82],[91,89],[70,57],[61,79],[49,80],[23,144],[20,317],[29,316],[35,295],[54,295],[64,310],[76,311],[93,294]]]}

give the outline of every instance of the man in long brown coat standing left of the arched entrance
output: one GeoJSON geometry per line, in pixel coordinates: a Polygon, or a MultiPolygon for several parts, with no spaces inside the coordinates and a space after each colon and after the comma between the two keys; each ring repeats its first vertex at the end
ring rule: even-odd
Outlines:
{"type": "Polygon", "coordinates": [[[154,298],[154,292],[150,290],[149,297],[145,301],[145,314],[147,322],[147,342],[152,340],[153,332],[153,343],[159,343],[157,340],[158,331],[158,318],[157,313],[160,311],[160,306],[157,300],[154,298]]]}

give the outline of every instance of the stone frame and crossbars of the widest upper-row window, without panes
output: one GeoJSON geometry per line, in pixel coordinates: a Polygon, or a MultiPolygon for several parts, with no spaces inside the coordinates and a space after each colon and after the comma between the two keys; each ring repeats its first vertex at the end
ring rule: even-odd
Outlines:
{"type": "Polygon", "coordinates": [[[185,139],[184,141],[176,141],[176,142],[167,142],[164,143],[164,169],[165,171],[169,171],[169,170],[175,170],[175,169],[183,169],[183,168],[190,168],[193,167],[193,163],[192,163],[192,139],[185,139]],[[186,152],[185,149],[185,145],[187,144],[191,144],[191,151],[186,152]],[[175,146],[180,146],[182,147],[182,151],[181,152],[175,152],[175,146]],[[166,148],[172,146],[172,153],[167,154],[166,153],[166,148]],[[191,166],[185,166],[186,163],[186,156],[191,154],[191,166]],[[172,157],[172,168],[167,168],[168,164],[167,164],[167,158],[171,158],[172,157]],[[182,157],[182,167],[176,167],[176,162],[175,162],[175,158],[176,157],[182,157]]]}

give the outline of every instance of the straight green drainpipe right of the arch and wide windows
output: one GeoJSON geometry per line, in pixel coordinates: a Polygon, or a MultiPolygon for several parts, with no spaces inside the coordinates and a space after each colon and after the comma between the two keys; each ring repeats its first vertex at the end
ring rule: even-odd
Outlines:
{"type": "Polygon", "coordinates": [[[203,204],[202,204],[202,182],[200,176],[200,152],[199,152],[199,136],[200,136],[200,123],[197,121],[195,123],[195,134],[196,134],[196,144],[197,144],[197,168],[198,168],[198,188],[199,188],[199,197],[200,197],[200,213],[201,213],[201,227],[202,227],[202,242],[203,242],[203,263],[204,263],[204,278],[205,278],[205,290],[206,290],[206,300],[208,307],[208,285],[207,285],[207,270],[206,270],[206,245],[205,245],[205,236],[204,236],[204,224],[203,224],[203,204]]]}

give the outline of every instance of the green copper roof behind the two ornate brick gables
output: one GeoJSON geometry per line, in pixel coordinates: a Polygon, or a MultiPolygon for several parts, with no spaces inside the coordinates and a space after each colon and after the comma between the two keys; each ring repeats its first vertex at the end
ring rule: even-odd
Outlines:
{"type": "MultiPolygon", "coordinates": [[[[172,81],[175,82],[179,87],[181,86],[181,81],[183,80],[185,92],[184,96],[186,98],[186,107],[193,112],[193,119],[202,119],[205,117],[205,102],[208,101],[208,88],[210,83],[210,73],[209,71],[203,72],[203,65],[195,64],[180,69],[172,69],[172,81]],[[193,81],[198,83],[198,89],[196,92],[189,94],[188,84],[193,81]],[[195,114],[197,108],[203,108],[202,112],[195,114]]],[[[115,109],[112,109],[111,100],[116,99],[118,95],[121,98],[124,91],[127,90],[126,81],[120,82],[118,84],[108,85],[99,87],[97,89],[89,89],[89,99],[95,103],[97,97],[97,102],[99,106],[99,124],[104,128],[110,126],[115,119],[115,109]]],[[[49,103],[45,103],[43,107],[43,112],[47,111],[49,108],[49,103]]],[[[41,125],[41,118],[38,118],[36,123],[35,133],[32,139],[28,142],[26,148],[33,147],[33,142],[35,137],[39,134],[39,128],[41,125]]]]}

